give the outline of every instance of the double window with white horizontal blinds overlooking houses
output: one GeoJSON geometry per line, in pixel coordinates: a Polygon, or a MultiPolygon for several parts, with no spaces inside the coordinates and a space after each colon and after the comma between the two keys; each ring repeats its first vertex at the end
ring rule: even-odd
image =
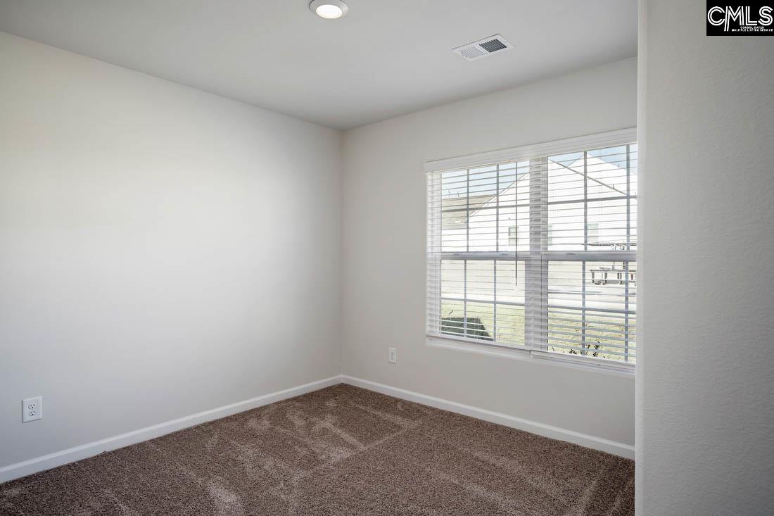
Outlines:
{"type": "Polygon", "coordinates": [[[428,335],[633,366],[634,135],[428,163],[428,335]]]}

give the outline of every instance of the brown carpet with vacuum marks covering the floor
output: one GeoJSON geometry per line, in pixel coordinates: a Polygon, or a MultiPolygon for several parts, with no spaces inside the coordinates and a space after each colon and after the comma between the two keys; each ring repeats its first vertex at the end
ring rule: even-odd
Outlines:
{"type": "Polygon", "coordinates": [[[337,385],[0,485],[0,514],[634,514],[634,463],[337,385]]]}

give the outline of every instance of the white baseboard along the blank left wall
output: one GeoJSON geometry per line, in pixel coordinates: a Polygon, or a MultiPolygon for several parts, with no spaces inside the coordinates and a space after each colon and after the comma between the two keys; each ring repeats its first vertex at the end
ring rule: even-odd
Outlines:
{"type": "Polygon", "coordinates": [[[325,380],[317,380],[310,384],[277,390],[276,392],[264,394],[263,396],[252,397],[249,400],[238,401],[237,403],[224,405],[204,412],[197,412],[197,414],[187,415],[183,418],[173,419],[172,421],[165,421],[158,425],[140,428],[139,430],[115,435],[113,437],[108,437],[107,439],[87,442],[84,445],[63,449],[60,452],[49,453],[48,455],[25,460],[21,463],[9,464],[9,466],[0,467],[0,483],[21,476],[38,473],[39,471],[50,470],[51,468],[62,466],[63,464],[73,463],[80,459],[98,455],[101,452],[109,452],[113,449],[123,448],[124,446],[147,441],[148,439],[154,439],[161,435],[169,434],[170,432],[182,430],[183,428],[200,425],[201,423],[212,421],[213,419],[225,418],[226,416],[234,415],[238,412],[248,411],[252,408],[262,407],[263,405],[286,400],[289,397],[300,396],[301,394],[307,394],[313,390],[320,390],[324,387],[330,387],[331,385],[340,383],[341,375],[326,378],[325,380]]]}

